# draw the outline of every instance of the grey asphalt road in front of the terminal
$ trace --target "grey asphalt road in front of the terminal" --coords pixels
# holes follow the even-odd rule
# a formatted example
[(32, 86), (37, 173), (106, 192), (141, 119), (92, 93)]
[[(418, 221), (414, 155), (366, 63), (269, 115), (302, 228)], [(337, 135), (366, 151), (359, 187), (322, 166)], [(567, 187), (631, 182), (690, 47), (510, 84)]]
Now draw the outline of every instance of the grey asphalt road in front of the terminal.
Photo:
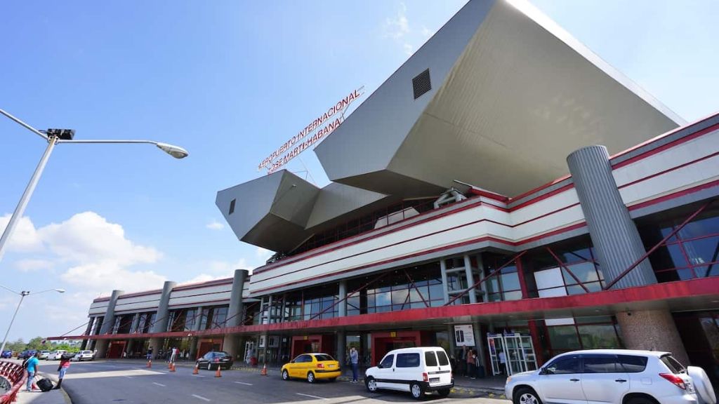
[[(40, 372), (57, 375), (58, 362), (42, 361)], [(63, 388), (74, 404), (104, 403), (326, 403), (375, 404), (416, 403), (409, 393), (383, 391), (370, 393), (362, 383), (283, 381), (275, 370), (268, 376), (244, 370), (228, 370), (222, 377), (201, 370), (192, 375), (191, 367), (169, 372), (165, 364), (152, 369), (138, 362), (73, 362), (65, 375)], [(425, 403), (508, 404), (507, 400), (487, 398), (482, 393), (454, 392), (449, 398), (428, 395)]]

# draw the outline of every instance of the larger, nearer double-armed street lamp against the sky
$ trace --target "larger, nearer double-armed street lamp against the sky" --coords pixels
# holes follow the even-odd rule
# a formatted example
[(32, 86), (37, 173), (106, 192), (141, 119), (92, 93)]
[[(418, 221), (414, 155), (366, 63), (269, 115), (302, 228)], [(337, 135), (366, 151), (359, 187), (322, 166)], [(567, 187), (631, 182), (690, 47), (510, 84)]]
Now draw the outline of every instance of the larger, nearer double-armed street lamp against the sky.
[(162, 142), (155, 142), (154, 140), (75, 140), (73, 139), (75, 135), (75, 131), (68, 130), (68, 129), (48, 129), (46, 133), (42, 133), (39, 130), (31, 127), (30, 125), (24, 123), (20, 119), (17, 119), (15, 116), (12, 116), (11, 114), (7, 113), (6, 111), (0, 109), (0, 114), (3, 114), (4, 116), (7, 116), (9, 119), (12, 119), (13, 121), (17, 122), (17, 124), (21, 125), (25, 129), (28, 129), (30, 132), (33, 132), (37, 134), (38, 136), (42, 137), (47, 141), (47, 147), (45, 148), (45, 153), (43, 153), (42, 157), (40, 158), (40, 162), (37, 164), (37, 168), (35, 168), (35, 173), (32, 174), (32, 178), (30, 178), (30, 182), (27, 183), (27, 187), (25, 188), (24, 193), (22, 193), (22, 197), (20, 198), (19, 203), (17, 203), (17, 207), (15, 208), (15, 211), (13, 212), (12, 216), (10, 217), (10, 221), (8, 222), (5, 231), (2, 234), (2, 237), (0, 237), (0, 261), (2, 260), (3, 254), (5, 252), (5, 244), (7, 243), (8, 239), (12, 235), (12, 232), (15, 229), (15, 226), (17, 226), (17, 221), (22, 217), (22, 214), (25, 211), (25, 207), (27, 206), (27, 202), (30, 200), (30, 196), (32, 196), (32, 192), (35, 190), (35, 185), (37, 185), (37, 181), (40, 180), (40, 175), (42, 175), (42, 170), (45, 170), (45, 164), (47, 164), (47, 159), (50, 158), (50, 153), (52, 153), (52, 150), (55, 149), (56, 144), (65, 144), (65, 143), (93, 143), (93, 144), (112, 144), (112, 143), (145, 143), (145, 144), (155, 144), (155, 146), (159, 147), (160, 150), (163, 152), (168, 153), (168, 155), (171, 155), (175, 158), (181, 159), (188, 156), (187, 150), (183, 149), (182, 147), (175, 146), (173, 144), (167, 144)]

